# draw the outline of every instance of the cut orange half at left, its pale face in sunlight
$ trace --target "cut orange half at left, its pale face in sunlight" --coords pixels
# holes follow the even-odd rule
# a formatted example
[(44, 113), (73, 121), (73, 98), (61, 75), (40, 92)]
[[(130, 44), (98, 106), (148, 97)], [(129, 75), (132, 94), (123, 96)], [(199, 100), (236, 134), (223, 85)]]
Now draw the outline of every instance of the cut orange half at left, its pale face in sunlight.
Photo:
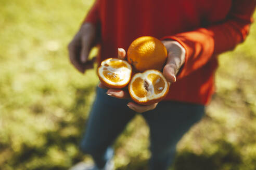
[(132, 66), (121, 59), (109, 58), (101, 62), (98, 77), (108, 88), (121, 89), (125, 87), (132, 76)]

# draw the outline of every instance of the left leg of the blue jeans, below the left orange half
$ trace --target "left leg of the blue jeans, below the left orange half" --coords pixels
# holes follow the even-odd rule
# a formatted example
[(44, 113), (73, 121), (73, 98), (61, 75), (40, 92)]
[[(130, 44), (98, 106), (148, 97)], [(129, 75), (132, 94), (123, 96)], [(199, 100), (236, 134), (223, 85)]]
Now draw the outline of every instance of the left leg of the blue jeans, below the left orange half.
[(110, 146), (136, 114), (126, 106), (129, 100), (110, 97), (106, 92), (105, 89), (97, 88), (96, 98), (81, 142), (81, 150), (91, 154), (99, 168), (104, 167), (107, 160), (112, 157)]

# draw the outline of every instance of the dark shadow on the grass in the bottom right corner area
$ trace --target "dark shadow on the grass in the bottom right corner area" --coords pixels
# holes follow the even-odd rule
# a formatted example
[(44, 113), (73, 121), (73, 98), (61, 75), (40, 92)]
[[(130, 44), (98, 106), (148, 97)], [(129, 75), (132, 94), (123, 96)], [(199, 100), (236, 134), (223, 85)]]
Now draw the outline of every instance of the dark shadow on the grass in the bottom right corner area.
[(225, 140), (217, 141), (218, 150), (212, 155), (200, 154), (184, 150), (177, 153), (175, 170), (217, 170), (217, 169), (239, 169), (242, 158), (238, 147)]

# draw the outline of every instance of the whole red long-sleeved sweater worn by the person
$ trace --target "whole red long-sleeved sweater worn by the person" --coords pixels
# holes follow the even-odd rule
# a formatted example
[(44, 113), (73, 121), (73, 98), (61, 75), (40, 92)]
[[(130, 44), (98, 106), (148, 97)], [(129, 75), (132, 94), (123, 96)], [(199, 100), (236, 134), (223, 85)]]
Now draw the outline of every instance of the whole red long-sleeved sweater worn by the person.
[(217, 54), (245, 40), (255, 0), (96, 0), (84, 22), (98, 30), (98, 62), (117, 57), (134, 39), (177, 40), (186, 61), (165, 100), (207, 104), (214, 92)]

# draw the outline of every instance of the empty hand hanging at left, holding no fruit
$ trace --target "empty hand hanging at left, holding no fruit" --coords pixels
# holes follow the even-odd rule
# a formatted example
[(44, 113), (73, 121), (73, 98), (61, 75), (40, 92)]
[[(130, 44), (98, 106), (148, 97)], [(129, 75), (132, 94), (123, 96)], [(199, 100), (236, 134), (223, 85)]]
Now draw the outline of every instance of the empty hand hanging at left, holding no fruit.
[(96, 58), (88, 60), (88, 56), (95, 43), (95, 38), (95, 26), (91, 23), (84, 23), (68, 45), (70, 62), (81, 73), (84, 73), (86, 69), (93, 68)]

